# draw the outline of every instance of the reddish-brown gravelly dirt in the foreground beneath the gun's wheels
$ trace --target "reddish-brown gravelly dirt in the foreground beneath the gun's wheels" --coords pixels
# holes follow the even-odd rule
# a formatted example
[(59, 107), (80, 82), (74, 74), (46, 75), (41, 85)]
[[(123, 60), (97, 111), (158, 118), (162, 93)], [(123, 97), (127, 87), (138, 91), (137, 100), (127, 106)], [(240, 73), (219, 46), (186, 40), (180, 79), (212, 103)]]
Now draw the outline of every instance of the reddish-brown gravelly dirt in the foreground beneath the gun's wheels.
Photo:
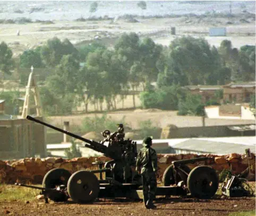
[(157, 199), (157, 209), (144, 209), (142, 201), (103, 200), (92, 204), (29, 203), (11, 201), (0, 203), (0, 215), (228, 215), (232, 212), (255, 210), (255, 198), (197, 200), (192, 198)]

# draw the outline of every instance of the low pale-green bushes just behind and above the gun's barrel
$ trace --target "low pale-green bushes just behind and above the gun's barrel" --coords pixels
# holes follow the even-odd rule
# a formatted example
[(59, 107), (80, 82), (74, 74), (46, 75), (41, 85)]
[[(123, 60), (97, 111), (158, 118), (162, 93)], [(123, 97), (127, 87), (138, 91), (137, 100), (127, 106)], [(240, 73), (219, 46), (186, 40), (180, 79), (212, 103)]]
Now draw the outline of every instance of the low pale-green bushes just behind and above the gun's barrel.
[(83, 118), (81, 130), (85, 133), (90, 131), (95, 131), (97, 133), (103, 132), (104, 130), (109, 130), (110, 132), (114, 132), (117, 130), (116, 124), (124, 124), (126, 127), (129, 125), (125, 123), (125, 116), (120, 121), (115, 121), (104, 113), (101, 116), (95, 115), (95, 118)]

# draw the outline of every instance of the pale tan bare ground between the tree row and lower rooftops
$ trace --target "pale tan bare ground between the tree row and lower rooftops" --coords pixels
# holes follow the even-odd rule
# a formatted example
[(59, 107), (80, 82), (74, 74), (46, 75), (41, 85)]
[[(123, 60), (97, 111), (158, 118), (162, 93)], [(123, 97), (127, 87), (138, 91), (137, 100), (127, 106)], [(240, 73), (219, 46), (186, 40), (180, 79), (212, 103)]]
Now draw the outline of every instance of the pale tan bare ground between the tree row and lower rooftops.
[[(96, 114), (101, 116), (101, 114)], [(202, 118), (200, 116), (178, 116), (177, 111), (153, 111), (135, 110), (135, 111), (118, 111), (108, 113), (115, 121), (121, 121), (124, 118), (126, 127), (139, 129), (140, 122), (150, 120), (152, 126), (164, 128), (168, 124), (175, 124), (178, 128), (182, 127), (201, 127)], [(67, 116), (50, 116), (48, 120), (54, 125), (63, 125), (64, 121), (69, 121), (71, 126), (82, 124), (83, 118), (94, 118), (95, 114), (67, 115)], [(255, 124), (255, 120), (236, 120), (236, 119), (206, 119), (206, 126), (214, 125), (235, 125), (235, 124)]]

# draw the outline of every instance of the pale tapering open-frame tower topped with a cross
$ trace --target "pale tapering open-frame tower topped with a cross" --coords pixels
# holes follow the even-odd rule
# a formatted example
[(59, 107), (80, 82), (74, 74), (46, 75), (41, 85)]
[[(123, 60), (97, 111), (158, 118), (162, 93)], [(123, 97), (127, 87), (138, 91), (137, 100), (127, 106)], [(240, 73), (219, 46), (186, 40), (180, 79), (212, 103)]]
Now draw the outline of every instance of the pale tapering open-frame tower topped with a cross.
[[(35, 104), (31, 103), (31, 96), (35, 99)], [(31, 66), (31, 73), (29, 75), (28, 85), (26, 87), (26, 94), (25, 94), (25, 100), (23, 104), (23, 110), (21, 118), (25, 119), (27, 115), (30, 114), (30, 109), (36, 108), (37, 110), (37, 116), (42, 116), (42, 106), (41, 106), (41, 100), (40, 100), (40, 94), (37, 87), (36, 79), (33, 74), (33, 66)]]

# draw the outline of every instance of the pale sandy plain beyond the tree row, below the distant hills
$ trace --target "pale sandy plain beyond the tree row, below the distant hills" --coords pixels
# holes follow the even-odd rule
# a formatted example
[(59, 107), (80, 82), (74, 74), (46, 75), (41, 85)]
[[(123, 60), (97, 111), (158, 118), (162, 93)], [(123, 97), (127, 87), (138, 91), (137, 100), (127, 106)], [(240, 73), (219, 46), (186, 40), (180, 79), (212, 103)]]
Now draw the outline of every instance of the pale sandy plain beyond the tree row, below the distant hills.
[[(96, 21), (54, 21), (52, 24), (1, 24), (0, 38), (13, 50), (13, 56), (19, 56), (24, 50), (45, 44), (48, 39), (58, 37), (69, 39), (76, 46), (99, 41), (113, 46), (124, 32), (136, 32), (141, 37), (151, 37), (155, 42), (168, 46), (170, 41), (182, 35), (204, 37), (211, 45), (219, 46), (223, 40), (231, 40), (233, 47), (255, 44), (255, 18), (245, 14), (237, 17), (173, 17), (173, 18), (136, 18), (96, 20)], [(171, 35), (171, 27), (176, 35)], [(226, 27), (226, 37), (209, 37), (209, 28)], [(20, 36), (17, 36), (17, 31)]]

